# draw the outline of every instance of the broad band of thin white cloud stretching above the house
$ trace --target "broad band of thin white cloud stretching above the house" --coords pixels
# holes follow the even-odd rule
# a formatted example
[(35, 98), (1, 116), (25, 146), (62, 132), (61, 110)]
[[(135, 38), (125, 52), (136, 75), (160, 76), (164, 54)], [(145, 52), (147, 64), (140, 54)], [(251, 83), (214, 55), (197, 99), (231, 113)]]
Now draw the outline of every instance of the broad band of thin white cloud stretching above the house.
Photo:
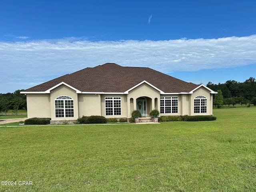
[(22, 77), (30, 83), (106, 62), (150, 67), (164, 73), (198, 71), (255, 64), (255, 47), (256, 35), (164, 41), (92, 42), (72, 37), (0, 42), (0, 68), (5, 76)]

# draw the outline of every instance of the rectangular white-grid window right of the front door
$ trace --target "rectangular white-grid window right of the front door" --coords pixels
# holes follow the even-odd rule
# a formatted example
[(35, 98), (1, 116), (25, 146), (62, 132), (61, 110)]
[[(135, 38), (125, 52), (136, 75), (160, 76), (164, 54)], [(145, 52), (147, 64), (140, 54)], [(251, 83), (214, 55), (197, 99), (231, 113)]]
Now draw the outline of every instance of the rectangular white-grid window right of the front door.
[(178, 113), (178, 97), (161, 97), (160, 113)]

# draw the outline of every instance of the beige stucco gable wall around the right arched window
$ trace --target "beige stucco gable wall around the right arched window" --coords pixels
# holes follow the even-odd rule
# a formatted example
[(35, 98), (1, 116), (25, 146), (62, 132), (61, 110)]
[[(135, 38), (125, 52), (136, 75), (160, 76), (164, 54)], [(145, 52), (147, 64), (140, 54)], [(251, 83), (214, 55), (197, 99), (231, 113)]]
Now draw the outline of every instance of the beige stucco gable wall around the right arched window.
[[(194, 113), (194, 98), (197, 96), (205, 96), (207, 98), (207, 112), (206, 113)], [(194, 115), (212, 115), (212, 94), (210, 94), (209, 90), (204, 87), (200, 87), (193, 92), (190, 96), (190, 108), (191, 108), (191, 116)]]

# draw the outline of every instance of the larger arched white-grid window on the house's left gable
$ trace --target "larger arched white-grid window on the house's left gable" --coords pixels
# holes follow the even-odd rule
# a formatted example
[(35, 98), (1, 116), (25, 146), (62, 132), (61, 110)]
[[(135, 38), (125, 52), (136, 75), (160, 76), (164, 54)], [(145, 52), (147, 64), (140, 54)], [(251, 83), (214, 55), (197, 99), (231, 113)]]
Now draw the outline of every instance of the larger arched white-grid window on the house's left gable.
[(74, 100), (68, 96), (55, 99), (55, 117), (74, 117)]

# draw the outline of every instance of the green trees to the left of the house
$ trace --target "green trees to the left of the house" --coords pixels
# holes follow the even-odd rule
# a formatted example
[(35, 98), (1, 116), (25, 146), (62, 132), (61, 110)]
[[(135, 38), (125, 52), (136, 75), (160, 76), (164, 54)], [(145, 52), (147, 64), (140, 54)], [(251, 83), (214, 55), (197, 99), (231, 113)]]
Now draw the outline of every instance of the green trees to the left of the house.
[(12, 110), (17, 113), (19, 109), (27, 109), (25, 94), (20, 94), (23, 90), (16, 90), (13, 93), (0, 94), (0, 112), (8, 113)]

